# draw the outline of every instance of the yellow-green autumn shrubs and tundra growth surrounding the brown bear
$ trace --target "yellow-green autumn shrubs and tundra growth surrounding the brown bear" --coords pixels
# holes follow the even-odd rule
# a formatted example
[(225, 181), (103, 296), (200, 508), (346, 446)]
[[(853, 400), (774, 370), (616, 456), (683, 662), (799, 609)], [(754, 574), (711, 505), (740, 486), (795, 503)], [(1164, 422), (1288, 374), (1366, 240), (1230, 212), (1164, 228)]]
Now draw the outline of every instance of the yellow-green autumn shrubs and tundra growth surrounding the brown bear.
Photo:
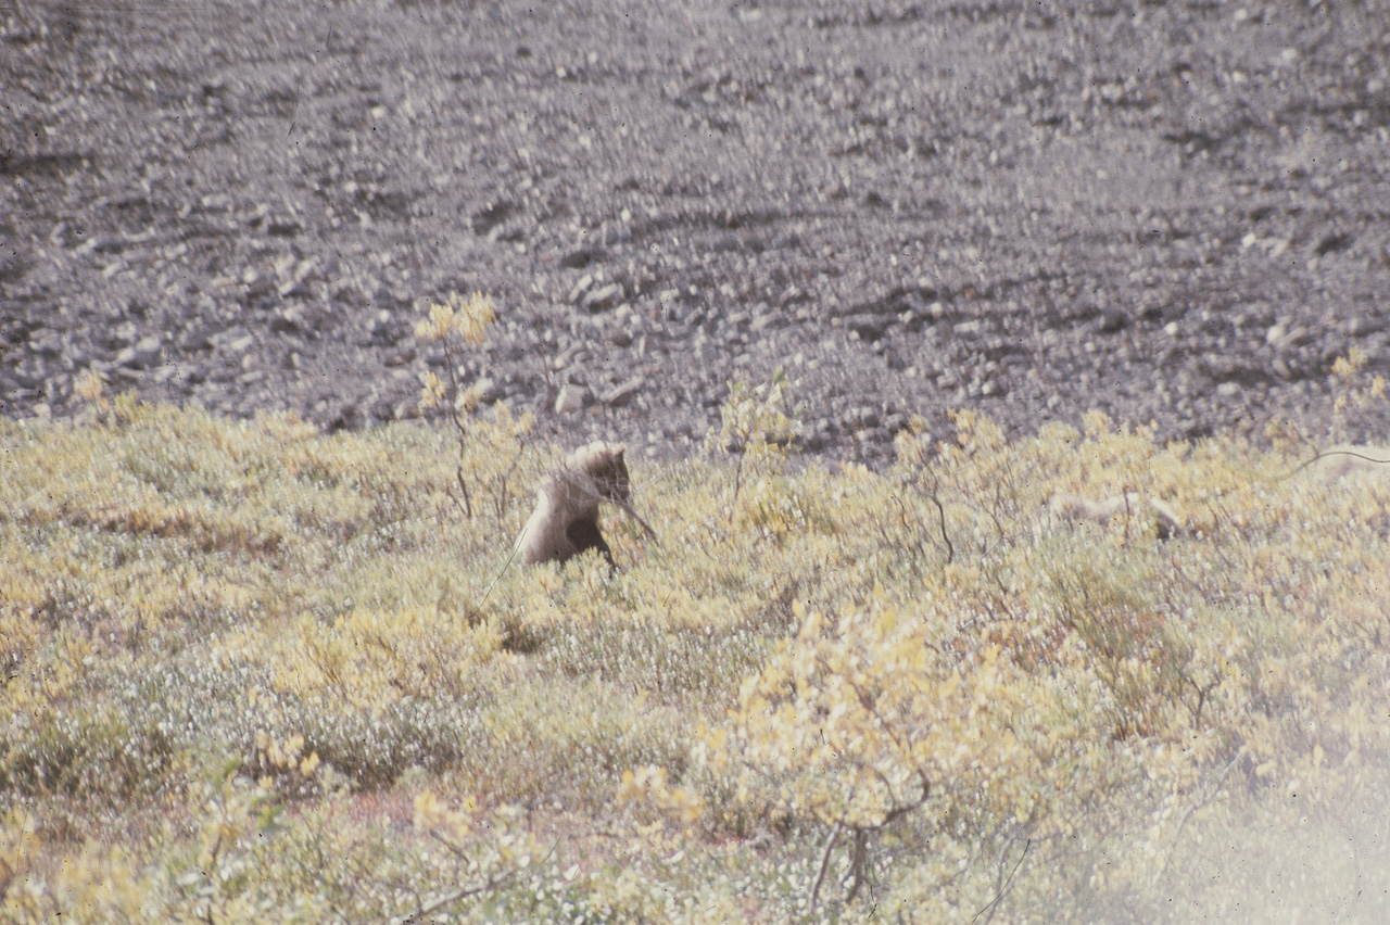
[[(459, 385), (0, 421), (0, 921), (1390, 917), (1380, 471), (966, 412), (833, 471), (738, 386), (632, 461), (659, 543), (503, 569), (563, 449)], [(1180, 529), (1049, 504), (1131, 494)]]

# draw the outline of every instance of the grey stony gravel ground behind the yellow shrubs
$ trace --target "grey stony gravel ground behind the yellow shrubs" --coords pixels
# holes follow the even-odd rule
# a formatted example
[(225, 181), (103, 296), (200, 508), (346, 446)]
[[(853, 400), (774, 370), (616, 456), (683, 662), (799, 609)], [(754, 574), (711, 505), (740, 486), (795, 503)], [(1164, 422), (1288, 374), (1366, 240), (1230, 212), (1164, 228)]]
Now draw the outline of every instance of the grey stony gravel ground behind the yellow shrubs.
[(1390, 374), (1390, 0), (0, 4), (8, 417), (410, 417), (450, 290), (486, 401), (653, 456), (777, 367), (873, 465), (956, 407), (1322, 435)]

